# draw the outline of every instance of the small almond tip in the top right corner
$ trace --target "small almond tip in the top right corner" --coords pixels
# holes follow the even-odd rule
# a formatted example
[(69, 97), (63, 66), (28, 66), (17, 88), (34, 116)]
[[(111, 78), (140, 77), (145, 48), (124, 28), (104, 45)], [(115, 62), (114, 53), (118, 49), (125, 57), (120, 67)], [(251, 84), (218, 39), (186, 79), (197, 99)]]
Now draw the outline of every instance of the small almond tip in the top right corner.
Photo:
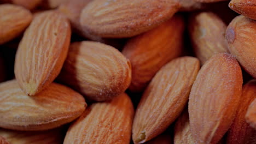
[(256, 1), (252, 0), (232, 0), (229, 3), (229, 8), (236, 13), (256, 20)]

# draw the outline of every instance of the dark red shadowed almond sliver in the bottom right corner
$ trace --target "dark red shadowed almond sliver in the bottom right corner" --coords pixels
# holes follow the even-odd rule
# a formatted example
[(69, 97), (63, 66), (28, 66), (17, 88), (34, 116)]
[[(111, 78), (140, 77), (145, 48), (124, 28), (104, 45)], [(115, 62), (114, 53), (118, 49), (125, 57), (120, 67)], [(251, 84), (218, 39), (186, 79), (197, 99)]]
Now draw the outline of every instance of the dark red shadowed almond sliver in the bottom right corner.
[(236, 117), (228, 131), (226, 137), (227, 144), (255, 144), (256, 130), (249, 126), (245, 116), (249, 105), (256, 98), (256, 81), (246, 83), (242, 89), (240, 105)]

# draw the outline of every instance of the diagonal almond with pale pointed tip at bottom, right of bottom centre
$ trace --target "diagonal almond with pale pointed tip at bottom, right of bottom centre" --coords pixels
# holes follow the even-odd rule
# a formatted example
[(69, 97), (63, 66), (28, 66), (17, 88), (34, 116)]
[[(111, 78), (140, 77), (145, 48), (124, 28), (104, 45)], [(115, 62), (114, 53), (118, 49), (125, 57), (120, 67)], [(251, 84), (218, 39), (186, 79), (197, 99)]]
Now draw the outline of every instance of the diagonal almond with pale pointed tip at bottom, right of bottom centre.
[(181, 114), (199, 71), (194, 57), (173, 59), (162, 67), (144, 91), (132, 125), (135, 144), (160, 135)]

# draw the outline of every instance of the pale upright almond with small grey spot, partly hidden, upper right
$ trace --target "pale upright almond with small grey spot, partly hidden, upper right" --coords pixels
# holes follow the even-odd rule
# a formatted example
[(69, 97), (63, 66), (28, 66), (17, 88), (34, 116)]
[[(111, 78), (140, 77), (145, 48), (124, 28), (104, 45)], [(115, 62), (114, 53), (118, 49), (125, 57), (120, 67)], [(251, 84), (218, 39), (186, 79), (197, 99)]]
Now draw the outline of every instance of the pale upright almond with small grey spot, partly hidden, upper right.
[(202, 12), (190, 17), (190, 39), (201, 64), (216, 53), (228, 52), (225, 31), (225, 23), (211, 12)]

